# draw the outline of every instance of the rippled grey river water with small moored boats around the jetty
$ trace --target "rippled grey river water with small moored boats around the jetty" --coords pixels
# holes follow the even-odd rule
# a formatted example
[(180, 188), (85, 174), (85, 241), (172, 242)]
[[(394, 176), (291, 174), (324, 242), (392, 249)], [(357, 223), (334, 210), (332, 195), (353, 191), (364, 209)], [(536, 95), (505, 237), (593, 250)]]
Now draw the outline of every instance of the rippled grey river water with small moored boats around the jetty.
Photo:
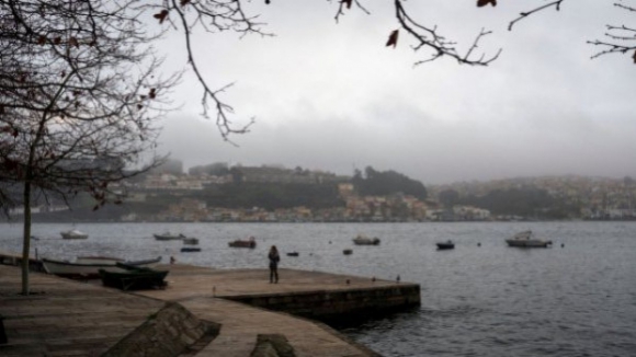
[[(376, 276), (421, 285), (416, 311), (340, 331), (384, 356), (636, 356), (636, 222), (513, 223), (82, 223), (88, 240), (61, 240), (70, 224), (37, 223), (41, 256), (173, 255), (216, 268), (266, 267), (276, 244), (281, 267)], [(21, 226), (0, 224), (0, 250), (21, 252)], [(504, 239), (532, 229), (550, 249), (513, 249)], [(201, 253), (152, 233), (182, 232)], [(353, 246), (363, 233), (379, 246)], [(255, 250), (227, 242), (254, 235)], [(452, 239), (455, 250), (436, 251)], [(561, 246), (563, 244), (563, 246)], [(342, 250), (353, 249), (345, 256)], [(281, 279), (284, 279), (284, 275)]]

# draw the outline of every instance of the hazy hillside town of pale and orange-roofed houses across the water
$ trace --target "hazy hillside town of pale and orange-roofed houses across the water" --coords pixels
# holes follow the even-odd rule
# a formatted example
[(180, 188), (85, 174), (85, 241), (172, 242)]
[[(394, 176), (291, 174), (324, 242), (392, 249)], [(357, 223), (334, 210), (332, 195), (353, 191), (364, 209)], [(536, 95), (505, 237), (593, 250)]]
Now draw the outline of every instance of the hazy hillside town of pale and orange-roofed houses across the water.
[[(205, 199), (209, 192), (229, 185), (270, 184), (328, 185), (336, 187), (337, 205), (330, 207), (224, 207)], [(462, 197), (484, 197), (493, 192), (541, 189), (559, 203), (576, 207), (565, 219), (633, 220), (636, 208), (636, 183), (631, 177), (554, 176), (508, 178), (488, 182), (461, 182), (427, 185), (427, 197), (395, 192), (389, 195), (360, 195), (352, 176), (334, 173), (287, 169), (281, 165), (229, 166), (216, 163), (183, 170), (183, 163), (170, 160), (160, 168), (134, 181), (120, 183), (114, 191), (121, 195), (121, 221), (213, 221), (213, 222), (386, 222), (386, 221), (510, 221), (536, 220), (536, 216), (492, 212), (475, 205), (462, 204)], [(456, 203), (445, 203), (447, 193)], [(212, 201), (211, 201), (212, 200)], [(161, 204), (158, 204), (160, 201)], [(144, 207), (151, 206), (154, 209)], [(64, 205), (39, 205), (34, 214), (66, 211)], [(77, 211), (77, 208), (76, 208)], [(14, 209), (13, 215), (20, 215)]]

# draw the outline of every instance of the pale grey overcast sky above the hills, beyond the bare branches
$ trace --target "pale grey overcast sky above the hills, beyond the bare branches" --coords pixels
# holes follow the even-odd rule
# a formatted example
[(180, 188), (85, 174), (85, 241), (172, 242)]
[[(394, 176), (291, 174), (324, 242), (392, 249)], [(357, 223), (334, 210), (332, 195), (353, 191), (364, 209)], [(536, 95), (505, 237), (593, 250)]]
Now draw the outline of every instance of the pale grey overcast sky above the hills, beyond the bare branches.
[[(224, 142), (201, 117), (201, 89), (186, 76), (175, 90), (181, 110), (163, 123), (161, 150), (186, 168), (213, 162), (283, 164), (352, 174), (367, 165), (425, 184), (537, 175), (636, 176), (636, 65), (628, 56), (590, 57), (586, 41), (605, 24), (634, 24), (611, 0), (569, 0), (515, 24), (545, 1), (405, 2), (422, 24), (436, 25), (461, 51), (485, 27), (479, 51), (502, 53), (488, 67), (450, 58), (414, 67), (393, 1), (364, 0), (336, 23), (337, 1), (254, 0), (274, 37), (196, 36), (208, 83), (235, 83), (222, 99), (247, 135)], [(627, 2), (629, 3), (629, 2)], [(629, 18), (631, 15), (631, 18)], [(632, 21), (629, 21), (632, 20)], [(184, 68), (182, 43), (167, 39), (168, 68)], [(182, 53), (183, 55), (179, 55)]]

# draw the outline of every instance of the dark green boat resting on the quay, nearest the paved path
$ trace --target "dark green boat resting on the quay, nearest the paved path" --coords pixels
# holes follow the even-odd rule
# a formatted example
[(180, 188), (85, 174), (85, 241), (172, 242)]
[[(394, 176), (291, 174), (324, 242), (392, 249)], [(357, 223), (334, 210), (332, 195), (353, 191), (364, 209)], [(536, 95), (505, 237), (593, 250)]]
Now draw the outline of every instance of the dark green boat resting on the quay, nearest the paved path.
[(155, 289), (166, 286), (166, 276), (169, 270), (155, 270), (129, 264), (117, 263), (120, 270), (99, 269), (102, 284), (124, 291), (138, 289)]

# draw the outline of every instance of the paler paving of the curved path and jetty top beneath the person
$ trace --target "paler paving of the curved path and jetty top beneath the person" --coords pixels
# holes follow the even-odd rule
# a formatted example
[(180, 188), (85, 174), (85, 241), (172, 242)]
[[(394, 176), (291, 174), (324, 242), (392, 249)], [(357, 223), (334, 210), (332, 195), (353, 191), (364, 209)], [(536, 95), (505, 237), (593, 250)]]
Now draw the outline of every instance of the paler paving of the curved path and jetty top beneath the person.
[(270, 284), (268, 269), (225, 270), (188, 265), (157, 268), (170, 269), (168, 288), (136, 293), (178, 301), (200, 319), (223, 325), (220, 334), (197, 356), (249, 356), (257, 335), (263, 333), (285, 335), (299, 357), (373, 356), (366, 347), (347, 341), (325, 324), (218, 298), (395, 285), (365, 277), (291, 269), (281, 269), (279, 284)]

